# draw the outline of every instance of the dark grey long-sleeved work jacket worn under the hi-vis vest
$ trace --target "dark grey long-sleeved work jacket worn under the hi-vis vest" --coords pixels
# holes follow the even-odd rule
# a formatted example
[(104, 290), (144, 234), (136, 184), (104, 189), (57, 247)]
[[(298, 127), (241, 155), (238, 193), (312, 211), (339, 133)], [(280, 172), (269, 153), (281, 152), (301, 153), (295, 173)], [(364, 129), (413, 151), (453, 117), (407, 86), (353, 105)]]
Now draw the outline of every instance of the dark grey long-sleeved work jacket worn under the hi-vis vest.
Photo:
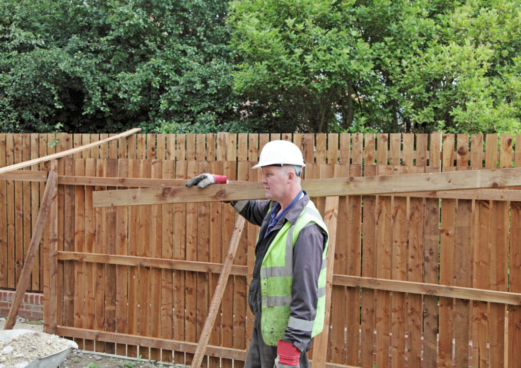
[[(266, 234), (270, 215), (268, 210), (276, 205), (270, 200), (250, 200), (232, 202), (235, 209), (249, 222), (261, 226), (258, 242), (255, 245), (255, 265), (253, 278), (248, 293), (248, 303), (256, 318), (261, 316), (261, 264), (266, 251), (277, 232), (286, 221), (295, 223), (302, 212), (309, 196), (297, 200), (281, 219)], [(293, 248), (293, 284), (291, 287), (290, 317), (313, 321), (317, 311), (318, 276), (322, 265), (322, 252), (326, 245), (327, 234), (316, 224), (304, 227), (296, 239)], [(311, 347), (311, 332), (292, 327), (286, 328), (283, 340), (305, 351)]]

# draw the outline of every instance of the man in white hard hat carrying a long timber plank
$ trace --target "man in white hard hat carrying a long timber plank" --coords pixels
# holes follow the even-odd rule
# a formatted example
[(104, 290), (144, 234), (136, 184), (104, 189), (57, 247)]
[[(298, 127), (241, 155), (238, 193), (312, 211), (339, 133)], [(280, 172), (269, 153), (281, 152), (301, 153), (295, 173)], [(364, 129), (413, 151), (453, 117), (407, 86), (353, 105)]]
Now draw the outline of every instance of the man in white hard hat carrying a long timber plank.
[[(272, 141), (253, 168), (262, 171), (267, 200), (231, 204), (261, 226), (248, 302), (255, 320), (245, 367), (308, 366), (306, 352), (324, 327), (328, 232), (301, 187), (302, 153), (287, 141)], [(201, 174), (186, 185), (227, 183)]]

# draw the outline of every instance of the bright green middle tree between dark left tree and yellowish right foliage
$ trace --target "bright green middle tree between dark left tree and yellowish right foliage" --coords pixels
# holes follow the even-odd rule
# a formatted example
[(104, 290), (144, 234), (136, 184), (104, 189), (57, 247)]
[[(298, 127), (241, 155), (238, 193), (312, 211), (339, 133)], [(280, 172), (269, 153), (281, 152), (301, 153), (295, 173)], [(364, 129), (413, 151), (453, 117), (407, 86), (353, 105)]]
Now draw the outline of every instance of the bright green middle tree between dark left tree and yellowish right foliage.
[(373, 55), (355, 22), (354, 1), (238, 0), (232, 44), (240, 57), (234, 88), (250, 120), (268, 130), (325, 132), (337, 115), (352, 124), (354, 84), (375, 79)]

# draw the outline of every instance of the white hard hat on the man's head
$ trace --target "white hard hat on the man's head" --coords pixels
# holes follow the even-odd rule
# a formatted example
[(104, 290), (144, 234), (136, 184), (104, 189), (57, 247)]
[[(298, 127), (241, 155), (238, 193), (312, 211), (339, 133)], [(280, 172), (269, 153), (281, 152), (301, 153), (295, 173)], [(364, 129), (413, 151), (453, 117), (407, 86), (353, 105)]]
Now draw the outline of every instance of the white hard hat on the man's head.
[(288, 141), (271, 141), (266, 143), (261, 151), (259, 163), (253, 168), (271, 165), (292, 165), (304, 167), (304, 158), (299, 147)]

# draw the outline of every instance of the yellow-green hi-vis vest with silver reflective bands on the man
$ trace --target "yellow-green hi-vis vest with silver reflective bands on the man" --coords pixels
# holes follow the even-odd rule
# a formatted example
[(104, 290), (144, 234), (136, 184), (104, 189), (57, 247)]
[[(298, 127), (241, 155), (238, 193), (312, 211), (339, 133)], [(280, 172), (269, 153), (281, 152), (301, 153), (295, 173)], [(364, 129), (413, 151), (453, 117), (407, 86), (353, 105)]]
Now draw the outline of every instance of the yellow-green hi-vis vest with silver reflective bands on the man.
[[(326, 254), (328, 243), (322, 252), (322, 267), (318, 277), (317, 313), (314, 321), (290, 319), (291, 284), (293, 282), (293, 247), (300, 231), (315, 223), (327, 233), (326, 224), (310, 200), (295, 224), (287, 221), (271, 242), (261, 265), (261, 331), (264, 342), (276, 346), (286, 327), (311, 332), (316, 336), (324, 328), (326, 304)], [(328, 234), (329, 237), (329, 234)]]

